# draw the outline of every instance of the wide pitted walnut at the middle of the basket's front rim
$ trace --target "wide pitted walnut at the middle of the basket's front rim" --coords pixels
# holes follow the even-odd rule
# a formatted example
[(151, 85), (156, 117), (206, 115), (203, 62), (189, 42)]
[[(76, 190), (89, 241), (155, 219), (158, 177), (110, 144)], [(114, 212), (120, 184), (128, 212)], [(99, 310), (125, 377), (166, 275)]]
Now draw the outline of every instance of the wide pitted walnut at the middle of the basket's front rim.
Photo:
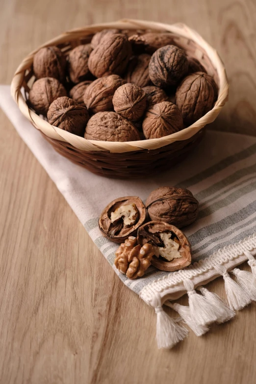
[(140, 140), (139, 132), (133, 124), (116, 112), (98, 112), (93, 115), (87, 123), (84, 137), (101, 141)]

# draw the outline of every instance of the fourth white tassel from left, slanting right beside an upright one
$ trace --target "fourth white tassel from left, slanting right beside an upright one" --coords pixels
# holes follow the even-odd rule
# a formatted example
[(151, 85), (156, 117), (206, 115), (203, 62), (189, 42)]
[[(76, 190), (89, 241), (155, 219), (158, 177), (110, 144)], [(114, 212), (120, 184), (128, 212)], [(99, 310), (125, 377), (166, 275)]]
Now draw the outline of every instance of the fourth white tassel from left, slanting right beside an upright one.
[(212, 308), (214, 308), (214, 312), (217, 316), (217, 324), (225, 323), (226, 321), (229, 321), (232, 319), (235, 315), (235, 312), (230, 309), (222, 300), (221, 298), (216, 295), (216, 293), (212, 293), (208, 291), (205, 287), (198, 288), (202, 292), (202, 294), (205, 296), (205, 299), (208, 303), (211, 304)]

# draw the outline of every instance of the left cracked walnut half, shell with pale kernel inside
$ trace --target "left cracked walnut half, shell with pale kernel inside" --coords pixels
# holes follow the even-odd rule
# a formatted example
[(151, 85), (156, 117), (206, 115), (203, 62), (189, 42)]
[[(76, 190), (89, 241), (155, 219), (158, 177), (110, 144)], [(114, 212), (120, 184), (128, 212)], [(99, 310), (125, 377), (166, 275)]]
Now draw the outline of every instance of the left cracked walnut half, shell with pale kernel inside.
[(123, 243), (129, 236), (137, 235), (137, 230), (146, 220), (146, 216), (146, 207), (139, 197), (120, 197), (104, 208), (99, 227), (109, 240)]

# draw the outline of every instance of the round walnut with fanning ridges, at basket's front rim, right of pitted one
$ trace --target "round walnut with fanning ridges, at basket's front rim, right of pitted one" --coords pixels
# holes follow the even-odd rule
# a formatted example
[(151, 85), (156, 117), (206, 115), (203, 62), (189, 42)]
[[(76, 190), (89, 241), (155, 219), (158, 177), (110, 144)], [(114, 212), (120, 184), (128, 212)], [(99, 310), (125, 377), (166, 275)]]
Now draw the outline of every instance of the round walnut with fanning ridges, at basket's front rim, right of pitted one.
[(183, 120), (177, 105), (172, 102), (159, 102), (146, 112), (142, 124), (146, 139), (159, 139), (178, 132), (183, 128)]

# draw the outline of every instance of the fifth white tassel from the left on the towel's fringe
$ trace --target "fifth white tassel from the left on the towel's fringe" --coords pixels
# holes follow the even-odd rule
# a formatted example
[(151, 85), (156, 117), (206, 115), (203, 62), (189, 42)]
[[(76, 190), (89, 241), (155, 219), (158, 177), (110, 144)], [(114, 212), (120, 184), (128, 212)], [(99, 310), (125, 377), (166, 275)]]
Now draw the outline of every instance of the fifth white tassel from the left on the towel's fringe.
[(231, 309), (240, 310), (251, 303), (248, 293), (236, 282), (234, 282), (228, 274), (226, 268), (221, 265), (215, 265), (215, 270), (223, 276), (225, 282), (225, 290)]

